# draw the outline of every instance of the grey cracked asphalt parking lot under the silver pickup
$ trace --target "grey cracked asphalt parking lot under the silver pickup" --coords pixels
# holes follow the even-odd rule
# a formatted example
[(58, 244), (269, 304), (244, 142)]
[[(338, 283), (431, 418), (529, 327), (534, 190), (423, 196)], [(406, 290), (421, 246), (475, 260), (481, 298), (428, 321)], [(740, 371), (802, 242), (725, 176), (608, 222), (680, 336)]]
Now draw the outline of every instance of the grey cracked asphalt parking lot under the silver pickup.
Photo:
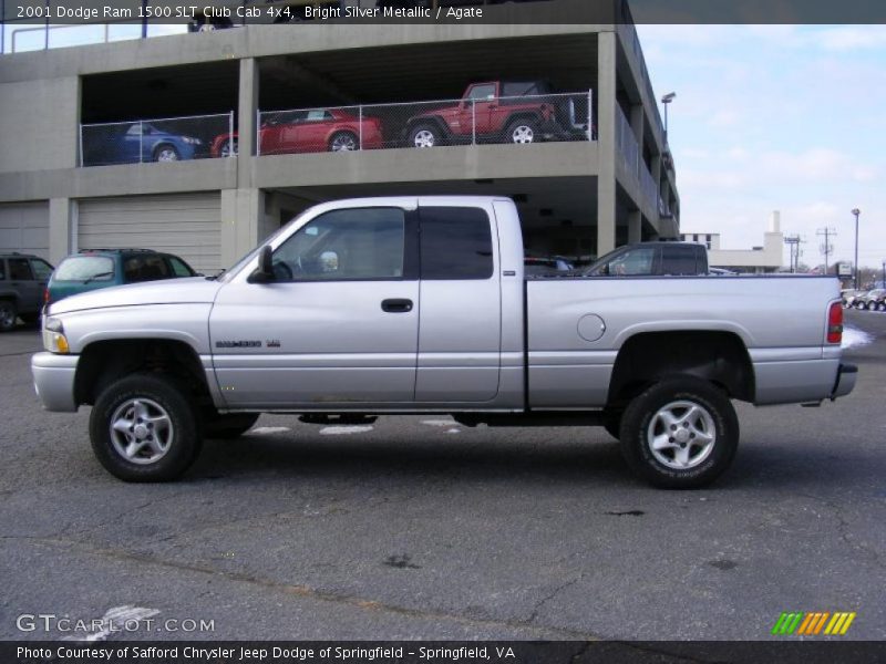
[(855, 392), (740, 405), (738, 459), (697, 491), (639, 483), (602, 429), (434, 417), (262, 416), (184, 480), (126, 485), (87, 409), (41, 412), (35, 331), (4, 334), (0, 639), (83, 637), (18, 618), (115, 609), (158, 622), (111, 640), (756, 640), (783, 611), (886, 639), (886, 314), (847, 320), (874, 338), (846, 353)]

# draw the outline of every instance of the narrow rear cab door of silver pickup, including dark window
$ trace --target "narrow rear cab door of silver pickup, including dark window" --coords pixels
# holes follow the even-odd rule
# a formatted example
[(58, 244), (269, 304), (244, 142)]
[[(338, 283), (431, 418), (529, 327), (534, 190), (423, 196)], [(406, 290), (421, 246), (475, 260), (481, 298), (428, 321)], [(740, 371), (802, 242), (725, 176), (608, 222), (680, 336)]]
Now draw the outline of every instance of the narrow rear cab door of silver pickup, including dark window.
[(492, 208), (419, 207), (421, 322), (415, 401), (483, 403), (498, 394), (502, 293)]

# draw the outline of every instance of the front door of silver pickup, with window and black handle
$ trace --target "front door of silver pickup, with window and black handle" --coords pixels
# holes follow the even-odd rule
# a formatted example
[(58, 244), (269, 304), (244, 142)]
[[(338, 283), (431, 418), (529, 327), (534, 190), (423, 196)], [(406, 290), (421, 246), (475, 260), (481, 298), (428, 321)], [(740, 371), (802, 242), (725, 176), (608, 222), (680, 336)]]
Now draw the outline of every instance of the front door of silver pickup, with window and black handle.
[(274, 281), (239, 273), (222, 288), (209, 334), (228, 407), (341, 412), (412, 404), (418, 227), (408, 208), (319, 211), (272, 241)]

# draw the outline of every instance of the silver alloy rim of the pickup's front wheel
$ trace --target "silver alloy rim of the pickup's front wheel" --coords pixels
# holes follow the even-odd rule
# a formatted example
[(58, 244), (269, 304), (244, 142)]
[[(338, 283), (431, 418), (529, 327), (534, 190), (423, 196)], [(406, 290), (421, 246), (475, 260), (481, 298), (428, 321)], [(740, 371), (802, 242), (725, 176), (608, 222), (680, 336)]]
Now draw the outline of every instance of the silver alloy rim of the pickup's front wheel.
[(175, 429), (169, 414), (150, 398), (123, 402), (111, 416), (111, 443), (133, 464), (148, 465), (169, 450)]

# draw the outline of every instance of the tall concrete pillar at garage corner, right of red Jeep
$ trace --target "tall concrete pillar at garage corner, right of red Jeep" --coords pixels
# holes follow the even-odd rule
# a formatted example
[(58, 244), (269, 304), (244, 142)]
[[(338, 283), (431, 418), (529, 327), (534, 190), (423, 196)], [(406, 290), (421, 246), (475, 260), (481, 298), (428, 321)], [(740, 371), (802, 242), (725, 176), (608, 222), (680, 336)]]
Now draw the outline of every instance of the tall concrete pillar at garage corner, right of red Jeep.
[(616, 248), (616, 33), (597, 35), (597, 256)]

